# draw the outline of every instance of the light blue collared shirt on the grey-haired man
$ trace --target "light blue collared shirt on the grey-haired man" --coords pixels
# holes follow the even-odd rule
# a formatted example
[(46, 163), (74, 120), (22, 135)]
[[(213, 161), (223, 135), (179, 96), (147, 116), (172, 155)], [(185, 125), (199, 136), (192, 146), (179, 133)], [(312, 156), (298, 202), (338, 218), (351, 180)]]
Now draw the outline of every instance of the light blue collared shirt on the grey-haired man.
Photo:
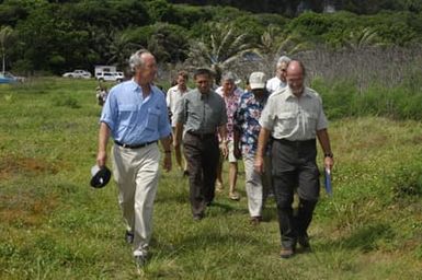
[(110, 127), (114, 140), (125, 144), (156, 141), (171, 132), (164, 94), (151, 85), (144, 98), (134, 80), (113, 86), (100, 121)]

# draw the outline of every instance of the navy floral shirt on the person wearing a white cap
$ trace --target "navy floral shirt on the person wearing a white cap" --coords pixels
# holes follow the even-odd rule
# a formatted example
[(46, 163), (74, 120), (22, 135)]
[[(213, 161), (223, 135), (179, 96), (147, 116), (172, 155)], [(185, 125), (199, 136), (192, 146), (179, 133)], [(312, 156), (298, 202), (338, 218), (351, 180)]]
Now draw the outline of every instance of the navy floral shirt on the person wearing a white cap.
[(267, 98), (267, 93), (262, 98), (255, 98), (252, 92), (246, 92), (240, 98), (235, 127), (240, 131), (240, 147), (243, 155), (256, 153), (258, 136), (261, 129), (259, 119)]

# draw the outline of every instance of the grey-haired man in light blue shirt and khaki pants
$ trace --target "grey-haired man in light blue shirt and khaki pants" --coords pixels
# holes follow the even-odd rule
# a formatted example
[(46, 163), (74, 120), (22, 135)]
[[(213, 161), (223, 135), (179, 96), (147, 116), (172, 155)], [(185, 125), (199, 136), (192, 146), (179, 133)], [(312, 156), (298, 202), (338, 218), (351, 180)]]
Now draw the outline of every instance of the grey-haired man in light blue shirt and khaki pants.
[(152, 232), (152, 206), (157, 192), (160, 152), (164, 149), (164, 170), (171, 170), (171, 127), (164, 94), (152, 84), (157, 62), (140, 49), (130, 56), (134, 78), (115, 85), (100, 119), (96, 162), (104, 166), (110, 136), (113, 174), (118, 202), (126, 221), (126, 241), (133, 243), (137, 265), (144, 265)]

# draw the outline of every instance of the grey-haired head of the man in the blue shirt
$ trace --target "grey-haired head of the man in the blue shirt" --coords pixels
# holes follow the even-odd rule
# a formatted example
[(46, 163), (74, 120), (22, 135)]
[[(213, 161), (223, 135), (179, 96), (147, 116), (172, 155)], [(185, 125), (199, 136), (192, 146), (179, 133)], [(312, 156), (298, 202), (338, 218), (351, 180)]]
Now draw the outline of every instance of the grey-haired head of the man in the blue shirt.
[(147, 49), (139, 49), (129, 58), (130, 71), (138, 83), (150, 83), (157, 74), (157, 62)]

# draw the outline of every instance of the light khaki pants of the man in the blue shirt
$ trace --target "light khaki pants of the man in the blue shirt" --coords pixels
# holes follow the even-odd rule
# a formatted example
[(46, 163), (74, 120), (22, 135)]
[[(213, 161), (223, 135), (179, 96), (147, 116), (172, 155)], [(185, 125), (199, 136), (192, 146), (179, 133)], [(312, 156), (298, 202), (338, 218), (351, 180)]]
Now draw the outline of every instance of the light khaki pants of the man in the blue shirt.
[(160, 152), (157, 143), (127, 149), (114, 145), (113, 174), (127, 231), (134, 233), (134, 255), (146, 255), (152, 233), (152, 207), (157, 194)]

